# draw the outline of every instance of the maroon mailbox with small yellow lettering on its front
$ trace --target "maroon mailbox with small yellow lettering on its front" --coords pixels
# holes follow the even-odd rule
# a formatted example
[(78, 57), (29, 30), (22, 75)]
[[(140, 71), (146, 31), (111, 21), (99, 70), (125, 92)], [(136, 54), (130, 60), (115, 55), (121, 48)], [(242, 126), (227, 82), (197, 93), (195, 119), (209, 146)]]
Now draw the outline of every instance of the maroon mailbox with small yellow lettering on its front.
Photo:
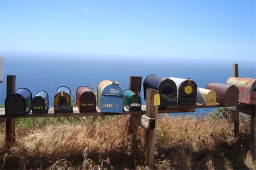
[(95, 112), (96, 97), (87, 86), (81, 86), (76, 90), (76, 104), (79, 112)]

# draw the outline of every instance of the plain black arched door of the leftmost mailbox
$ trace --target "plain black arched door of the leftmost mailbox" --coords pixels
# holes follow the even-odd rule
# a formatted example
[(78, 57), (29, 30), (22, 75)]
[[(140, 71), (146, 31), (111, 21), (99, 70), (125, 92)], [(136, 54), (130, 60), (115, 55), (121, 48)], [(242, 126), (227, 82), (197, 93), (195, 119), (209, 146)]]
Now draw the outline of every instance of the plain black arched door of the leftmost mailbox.
[(6, 115), (25, 115), (26, 101), (22, 95), (13, 93), (5, 100), (5, 114)]

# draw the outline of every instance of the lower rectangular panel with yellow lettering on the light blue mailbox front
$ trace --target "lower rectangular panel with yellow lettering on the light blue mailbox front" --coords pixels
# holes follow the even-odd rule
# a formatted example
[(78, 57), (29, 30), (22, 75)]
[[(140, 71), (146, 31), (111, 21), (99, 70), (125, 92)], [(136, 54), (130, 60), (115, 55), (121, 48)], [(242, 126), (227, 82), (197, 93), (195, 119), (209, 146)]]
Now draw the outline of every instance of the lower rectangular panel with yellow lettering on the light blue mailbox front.
[(122, 113), (123, 112), (123, 98), (121, 96), (102, 96), (101, 112), (110, 112), (110, 113)]

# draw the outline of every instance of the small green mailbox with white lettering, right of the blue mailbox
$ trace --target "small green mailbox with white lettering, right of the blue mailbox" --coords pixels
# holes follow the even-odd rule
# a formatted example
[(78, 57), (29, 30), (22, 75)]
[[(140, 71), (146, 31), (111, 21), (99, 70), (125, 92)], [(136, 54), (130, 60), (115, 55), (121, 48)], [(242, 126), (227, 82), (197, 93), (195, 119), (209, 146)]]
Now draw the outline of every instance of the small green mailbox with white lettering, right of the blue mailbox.
[(126, 89), (123, 91), (123, 105), (129, 111), (141, 109), (141, 98), (132, 90)]

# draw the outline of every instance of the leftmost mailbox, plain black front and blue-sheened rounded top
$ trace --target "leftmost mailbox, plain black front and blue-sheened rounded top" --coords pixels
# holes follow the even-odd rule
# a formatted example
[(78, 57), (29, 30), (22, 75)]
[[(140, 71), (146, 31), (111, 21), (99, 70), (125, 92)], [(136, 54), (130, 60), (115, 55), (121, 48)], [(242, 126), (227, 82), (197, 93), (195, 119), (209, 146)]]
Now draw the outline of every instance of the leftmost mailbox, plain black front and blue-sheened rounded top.
[(5, 100), (6, 115), (26, 115), (31, 110), (32, 94), (27, 88), (19, 88)]

